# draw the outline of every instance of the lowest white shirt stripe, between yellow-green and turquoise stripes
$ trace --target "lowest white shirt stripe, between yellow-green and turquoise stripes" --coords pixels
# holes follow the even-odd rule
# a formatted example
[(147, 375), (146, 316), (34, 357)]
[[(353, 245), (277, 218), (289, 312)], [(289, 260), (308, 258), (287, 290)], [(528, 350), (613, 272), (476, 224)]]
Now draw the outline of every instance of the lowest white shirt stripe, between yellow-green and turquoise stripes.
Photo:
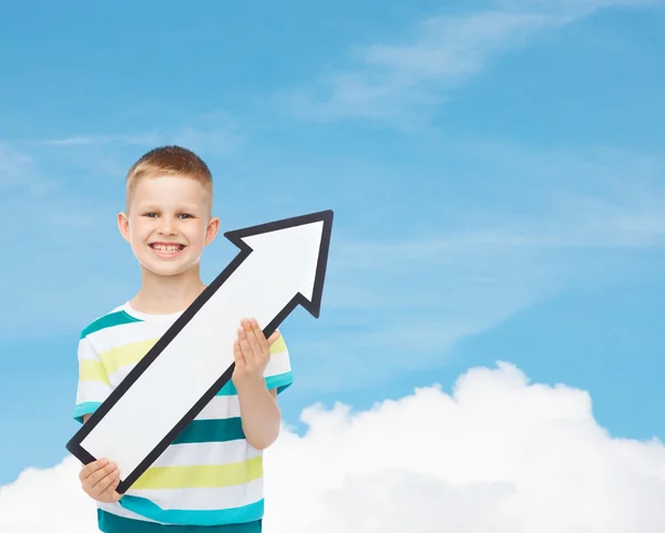
[(147, 498), (164, 510), (217, 511), (239, 508), (258, 502), (263, 498), (263, 479), (249, 483), (215, 489), (150, 489), (127, 491), (139, 498)]

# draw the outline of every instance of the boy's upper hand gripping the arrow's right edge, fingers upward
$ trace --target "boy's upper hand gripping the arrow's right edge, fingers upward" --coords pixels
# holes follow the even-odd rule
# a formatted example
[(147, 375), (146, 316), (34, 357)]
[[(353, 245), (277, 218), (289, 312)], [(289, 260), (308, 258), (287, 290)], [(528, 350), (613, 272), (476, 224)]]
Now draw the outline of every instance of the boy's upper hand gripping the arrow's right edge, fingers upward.
[(243, 319), (234, 342), (235, 369), (232, 380), (237, 387), (246, 381), (263, 380), (264, 370), (270, 359), (270, 346), (279, 338), (276, 330), (268, 339), (256, 319)]

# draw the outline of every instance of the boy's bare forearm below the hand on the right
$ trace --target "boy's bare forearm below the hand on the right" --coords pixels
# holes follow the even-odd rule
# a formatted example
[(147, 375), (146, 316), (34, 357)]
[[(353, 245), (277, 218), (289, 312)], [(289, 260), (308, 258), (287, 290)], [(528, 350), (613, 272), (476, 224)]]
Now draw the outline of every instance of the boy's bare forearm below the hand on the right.
[(268, 448), (279, 435), (282, 412), (274, 392), (263, 378), (236, 383), (243, 432), (257, 450)]

